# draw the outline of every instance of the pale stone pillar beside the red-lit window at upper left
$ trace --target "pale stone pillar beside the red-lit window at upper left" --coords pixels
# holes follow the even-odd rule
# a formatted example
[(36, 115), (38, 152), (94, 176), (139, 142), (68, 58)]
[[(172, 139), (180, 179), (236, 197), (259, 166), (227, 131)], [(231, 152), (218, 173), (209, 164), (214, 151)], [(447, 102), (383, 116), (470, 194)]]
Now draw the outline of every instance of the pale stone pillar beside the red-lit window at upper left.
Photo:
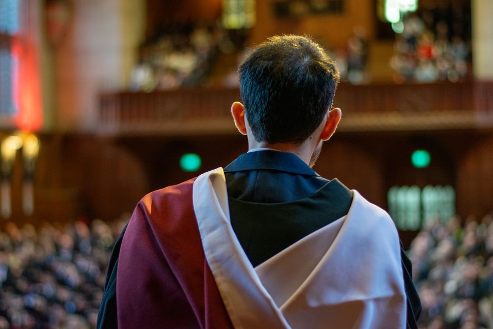
[(72, 0), (56, 49), (57, 128), (93, 131), (98, 94), (127, 87), (145, 22), (144, 0)]

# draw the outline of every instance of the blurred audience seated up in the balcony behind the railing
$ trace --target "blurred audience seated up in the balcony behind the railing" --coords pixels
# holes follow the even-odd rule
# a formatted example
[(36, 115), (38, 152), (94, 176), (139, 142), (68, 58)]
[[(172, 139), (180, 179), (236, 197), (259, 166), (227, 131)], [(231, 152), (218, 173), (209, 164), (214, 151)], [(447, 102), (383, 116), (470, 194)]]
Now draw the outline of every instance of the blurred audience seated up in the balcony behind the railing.
[[(460, 5), (421, 10), (392, 23), (395, 42), (390, 66), (395, 80), (426, 83), (467, 78), (471, 74), (470, 26), (470, 9)], [(132, 70), (129, 89), (150, 92), (206, 85), (217, 66), (227, 66), (226, 71), (230, 71), (223, 84), (237, 87), (237, 65), (217, 63), (224, 59), (221, 53), (235, 53), (236, 64), (248, 53), (244, 44), (248, 31), (234, 31), (203, 22), (162, 27), (139, 47), (139, 62)], [(364, 27), (355, 26), (346, 45), (336, 48), (314, 37), (330, 52), (343, 81), (371, 81), (367, 70), (369, 39)]]

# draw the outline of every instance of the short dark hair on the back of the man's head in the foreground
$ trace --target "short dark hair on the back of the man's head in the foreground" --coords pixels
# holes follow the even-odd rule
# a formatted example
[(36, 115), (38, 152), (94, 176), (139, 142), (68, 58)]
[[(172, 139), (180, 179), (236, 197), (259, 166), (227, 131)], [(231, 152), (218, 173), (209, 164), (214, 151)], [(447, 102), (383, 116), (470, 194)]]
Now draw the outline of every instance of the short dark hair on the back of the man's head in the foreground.
[(241, 64), (240, 93), (257, 141), (305, 141), (332, 106), (339, 72), (325, 50), (301, 35), (276, 35)]

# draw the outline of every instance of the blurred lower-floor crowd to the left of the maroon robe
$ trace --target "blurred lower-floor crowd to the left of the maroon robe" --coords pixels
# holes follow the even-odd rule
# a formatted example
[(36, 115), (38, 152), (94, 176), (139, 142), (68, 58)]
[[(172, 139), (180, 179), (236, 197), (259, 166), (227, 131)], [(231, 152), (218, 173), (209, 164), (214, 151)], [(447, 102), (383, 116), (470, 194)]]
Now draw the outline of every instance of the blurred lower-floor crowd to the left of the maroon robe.
[(126, 220), (0, 231), (0, 329), (94, 328), (113, 243)]

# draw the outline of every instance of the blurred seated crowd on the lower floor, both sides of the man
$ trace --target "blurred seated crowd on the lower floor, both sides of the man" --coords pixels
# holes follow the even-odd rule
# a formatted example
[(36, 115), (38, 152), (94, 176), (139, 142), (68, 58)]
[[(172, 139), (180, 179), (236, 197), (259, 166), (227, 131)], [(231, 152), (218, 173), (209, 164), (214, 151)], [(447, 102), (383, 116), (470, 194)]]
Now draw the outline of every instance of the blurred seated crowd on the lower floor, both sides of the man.
[[(0, 329), (94, 328), (128, 216), (0, 231)], [(493, 328), (493, 216), (430, 221), (409, 249), (421, 329)]]

